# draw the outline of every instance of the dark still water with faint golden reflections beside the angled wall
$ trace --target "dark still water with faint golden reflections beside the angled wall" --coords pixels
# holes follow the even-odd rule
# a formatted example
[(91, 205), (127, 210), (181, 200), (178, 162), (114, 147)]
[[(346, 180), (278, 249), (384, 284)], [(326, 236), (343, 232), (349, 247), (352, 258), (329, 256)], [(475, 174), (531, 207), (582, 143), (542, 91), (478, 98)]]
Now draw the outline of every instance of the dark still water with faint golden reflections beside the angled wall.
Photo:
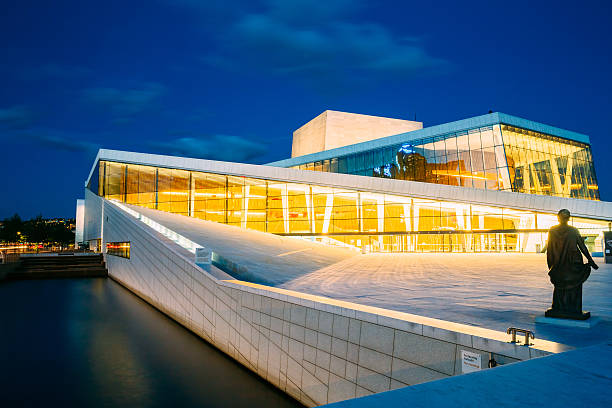
[(110, 279), (0, 283), (0, 406), (297, 407)]

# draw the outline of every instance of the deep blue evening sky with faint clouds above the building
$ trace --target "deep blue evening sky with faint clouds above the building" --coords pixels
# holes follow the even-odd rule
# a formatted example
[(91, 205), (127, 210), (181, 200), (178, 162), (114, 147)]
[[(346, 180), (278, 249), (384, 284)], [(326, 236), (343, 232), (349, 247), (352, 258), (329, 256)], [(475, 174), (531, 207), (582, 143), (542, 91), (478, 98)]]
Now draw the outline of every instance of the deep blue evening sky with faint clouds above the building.
[(99, 147), (266, 163), (325, 109), (586, 133), (612, 200), (609, 4), (4, 2), (0, 218), (73, 216)]

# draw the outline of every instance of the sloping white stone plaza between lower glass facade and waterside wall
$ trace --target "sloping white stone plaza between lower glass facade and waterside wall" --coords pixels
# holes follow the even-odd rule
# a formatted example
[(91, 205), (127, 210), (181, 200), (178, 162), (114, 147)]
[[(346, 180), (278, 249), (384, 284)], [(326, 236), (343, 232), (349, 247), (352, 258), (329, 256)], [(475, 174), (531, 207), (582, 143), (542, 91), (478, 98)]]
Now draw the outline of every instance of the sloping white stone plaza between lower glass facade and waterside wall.
[[(516, 326), (540, 338), (589, 345), (612, 338), (612, 264), (584, 285), (584, 310), (609, 319), (589, 336), (535, 323), (550, 307), (545, 254), (361, 254), (305, 239), (278, 237), (163, 211), (134, 210), (231, 259), (232, 277), (331, 299), (504, 331)], [(610, 327), (608, 327), (610, 326)]]

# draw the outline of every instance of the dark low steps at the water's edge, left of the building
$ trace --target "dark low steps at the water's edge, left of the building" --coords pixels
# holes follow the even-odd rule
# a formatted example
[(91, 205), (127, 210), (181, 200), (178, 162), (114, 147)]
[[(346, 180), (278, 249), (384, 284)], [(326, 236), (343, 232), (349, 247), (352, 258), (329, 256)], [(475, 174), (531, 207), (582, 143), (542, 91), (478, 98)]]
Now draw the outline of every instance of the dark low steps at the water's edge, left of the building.
[(7, 279), (98, 278), (107, 277), (102, 254), (26, 255)]

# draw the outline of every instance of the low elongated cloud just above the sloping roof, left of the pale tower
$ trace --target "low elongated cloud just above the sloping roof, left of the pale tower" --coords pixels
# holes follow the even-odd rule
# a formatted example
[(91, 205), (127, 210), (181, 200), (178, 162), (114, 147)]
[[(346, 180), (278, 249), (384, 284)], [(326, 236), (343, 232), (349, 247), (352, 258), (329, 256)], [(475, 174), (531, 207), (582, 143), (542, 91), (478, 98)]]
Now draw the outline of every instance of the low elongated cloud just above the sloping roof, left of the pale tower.
[(149, 146), (162, 154), (234, 162), (252, 160), (268, 150), (263, 143), (228, 135), (186, 136)]

